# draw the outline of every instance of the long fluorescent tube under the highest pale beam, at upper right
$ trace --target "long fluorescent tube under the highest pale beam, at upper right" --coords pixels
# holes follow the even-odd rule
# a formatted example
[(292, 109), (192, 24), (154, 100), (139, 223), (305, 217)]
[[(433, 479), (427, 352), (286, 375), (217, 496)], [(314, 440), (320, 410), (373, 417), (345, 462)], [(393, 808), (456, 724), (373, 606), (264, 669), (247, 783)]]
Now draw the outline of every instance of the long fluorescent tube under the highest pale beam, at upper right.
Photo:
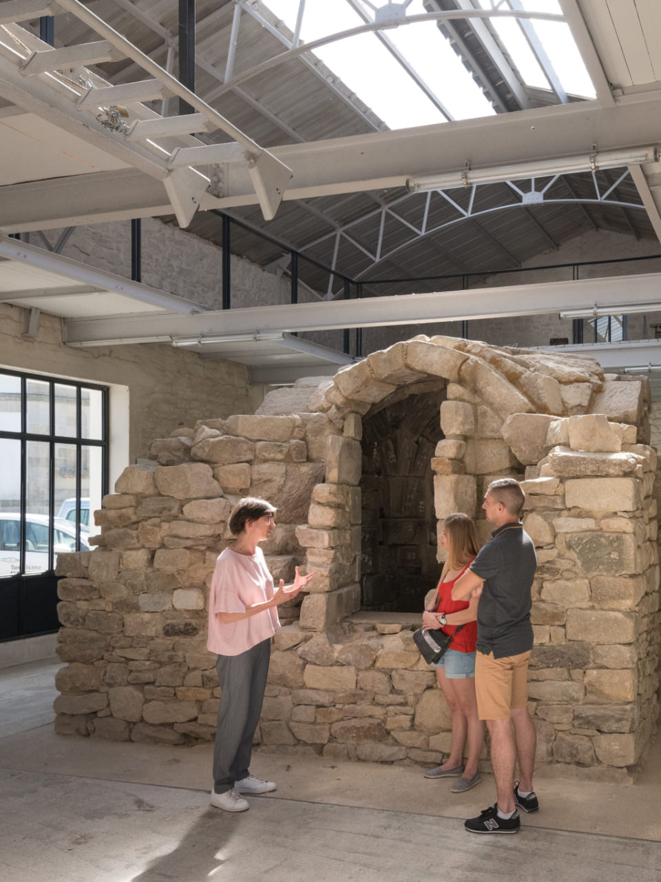
[(642, 165), (645, 162), (657, 161), (657, 146), (613, 150), (605, 153), (585, 153), (582, 156), (568, 156), (553, 160), (521, 162), (516, 165), (492, 168), (465, 168), (463, 171), (452, 171), (439, 175), (410, 177), (406, 181), (406, 190), (410, 193), (427, 190), (452, 190), (456, 187), (471, 187), (476, 183), (500, 183), (501, 181), (520, 181), (532, 177), (571, 175), (582, 171), (597, 171), (599, 168), (620, 168), (621, 166)]

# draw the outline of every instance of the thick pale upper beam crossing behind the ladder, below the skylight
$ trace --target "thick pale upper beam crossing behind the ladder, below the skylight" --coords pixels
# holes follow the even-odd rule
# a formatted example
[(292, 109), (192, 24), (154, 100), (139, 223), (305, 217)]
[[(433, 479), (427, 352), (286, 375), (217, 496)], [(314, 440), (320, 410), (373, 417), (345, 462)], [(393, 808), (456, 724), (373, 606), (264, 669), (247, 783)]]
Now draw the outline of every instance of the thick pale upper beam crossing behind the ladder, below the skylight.
[[(271, 153), (293, 168), (293, 180), (284, 198), (307, 199), (400, 187), (411, 176), (463, 169), (466, 160), (471, 161), (472, 168), (494, 168), (588, 155), (593, 144), (603, 151), (657, 144), (661, 141), (659, 119), (661, 90), (654, 89), (622, 95), (613, 108), (602, 108), (598, 101), (583, 101), (456, 123), (290, 144), (274, 147)], [(99, 146), (110, 134), (99, 133)], [(128, 158), (123, 139), (115, 138), (113, 147), (122, 147), (123, 152), (115, 155)], [(158, 162), (153, 155), (150, 161)], [(231, 169), (231, 174), (223, 176), (226, 188), (222, 196), (205, 193), (201, 208), (255, 205), (258, 200), (247, 164), (237, 160), (224, 164), (224, 168)], [(0, 188), (0, 229), (20, 232), (169, 213), (171, 207), (162, 184), (154, 182), (158, 185), (154, 186), (144, 178), (131, 169), (124, 176), (104, 172), (43, 182), (33, 191), (33, 184)]]

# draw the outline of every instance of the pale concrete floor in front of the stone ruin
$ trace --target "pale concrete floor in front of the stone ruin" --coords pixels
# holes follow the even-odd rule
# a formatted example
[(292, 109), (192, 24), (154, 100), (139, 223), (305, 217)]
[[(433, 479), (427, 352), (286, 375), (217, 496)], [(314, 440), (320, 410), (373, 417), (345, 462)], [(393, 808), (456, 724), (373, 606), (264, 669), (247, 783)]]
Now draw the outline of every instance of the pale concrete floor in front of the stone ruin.
[(278, 782), (239, 815), (212, 809), (211, 745), (56, 736), (57, 662), (0, 670), (3, 882), (661, 882), (661, 739), (630, 787), (539, 778), (516, 836), (475, 836), (464, 796), (412, 766), (256, 753)]

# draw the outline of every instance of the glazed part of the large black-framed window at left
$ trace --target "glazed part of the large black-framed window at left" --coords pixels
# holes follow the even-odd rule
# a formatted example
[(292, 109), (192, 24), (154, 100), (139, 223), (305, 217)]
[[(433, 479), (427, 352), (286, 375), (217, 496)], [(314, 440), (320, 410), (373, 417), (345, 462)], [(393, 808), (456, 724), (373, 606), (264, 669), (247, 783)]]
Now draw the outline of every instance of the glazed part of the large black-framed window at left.
[(108, 388), (0, 370), (0, 579), (90, 548), (108, 492)]

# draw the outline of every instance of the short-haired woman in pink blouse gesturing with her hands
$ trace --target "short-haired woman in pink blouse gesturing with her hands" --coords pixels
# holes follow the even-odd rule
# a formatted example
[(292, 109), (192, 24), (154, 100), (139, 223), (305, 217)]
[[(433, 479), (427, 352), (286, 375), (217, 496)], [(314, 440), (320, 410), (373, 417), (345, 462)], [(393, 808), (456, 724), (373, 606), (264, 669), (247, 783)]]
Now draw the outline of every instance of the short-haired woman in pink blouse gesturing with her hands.
[(291, 600), (315, 575), (293, 584), (273, 585), (264, 552), (257, 547), (271, 535), (276, 509), (264, 499), (241, 499), (230, 515), (236, 536), (216, 562), (209, 595), (207, 648), (218, 654), (216, 669), (222, 689), (213, 751), (212, 805), (225, 811), (246, 811), (241, 794), (268, 793), (273, 781), (249, 773), (252, 740), (262, 711), (271, 638), (280, 623), (276, 607)]

